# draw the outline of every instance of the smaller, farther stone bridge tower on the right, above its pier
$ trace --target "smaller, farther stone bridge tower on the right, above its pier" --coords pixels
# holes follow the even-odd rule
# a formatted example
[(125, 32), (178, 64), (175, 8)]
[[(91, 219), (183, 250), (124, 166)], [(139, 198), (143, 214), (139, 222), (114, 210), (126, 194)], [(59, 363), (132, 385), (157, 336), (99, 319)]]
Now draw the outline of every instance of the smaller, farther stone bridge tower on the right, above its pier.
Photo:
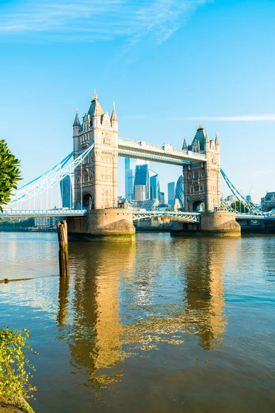
[(220, 207), (220, 145), (216, 134), (215, 140), (209, 140), (207, 131), (201, 124), (192, 144), (187, 146), (184, 138), (182, 149), (204, 153), (207, 162), (192, 162), (184, 165), (184, 211), (214, 211)]

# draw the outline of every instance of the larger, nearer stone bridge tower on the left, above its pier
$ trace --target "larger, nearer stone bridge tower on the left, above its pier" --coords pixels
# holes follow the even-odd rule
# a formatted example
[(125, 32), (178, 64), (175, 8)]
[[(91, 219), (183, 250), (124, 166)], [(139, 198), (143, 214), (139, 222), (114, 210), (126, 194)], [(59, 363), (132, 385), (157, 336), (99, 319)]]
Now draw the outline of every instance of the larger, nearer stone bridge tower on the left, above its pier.
[(94, 149), (75, 170), (76, 209), (110, 209), (118, 204), (118, 118), (103, 112), (94, 92), (89, 111), (80, 124), (74, 120), (74, 158), (94, 143)]

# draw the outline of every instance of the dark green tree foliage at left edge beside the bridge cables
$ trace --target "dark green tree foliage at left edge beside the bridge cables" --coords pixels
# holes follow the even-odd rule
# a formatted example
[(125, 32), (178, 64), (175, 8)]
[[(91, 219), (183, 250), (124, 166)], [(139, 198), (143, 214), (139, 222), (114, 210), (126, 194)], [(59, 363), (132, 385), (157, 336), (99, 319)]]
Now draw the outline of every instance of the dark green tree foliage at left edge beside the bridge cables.
[(0, 140), (0, 211), (1, 205), (8, 204), (12, 190), (17, 189), (17, 182), (21, 180), (19, 171), (20, 161), (12, 155), (5, 140)]

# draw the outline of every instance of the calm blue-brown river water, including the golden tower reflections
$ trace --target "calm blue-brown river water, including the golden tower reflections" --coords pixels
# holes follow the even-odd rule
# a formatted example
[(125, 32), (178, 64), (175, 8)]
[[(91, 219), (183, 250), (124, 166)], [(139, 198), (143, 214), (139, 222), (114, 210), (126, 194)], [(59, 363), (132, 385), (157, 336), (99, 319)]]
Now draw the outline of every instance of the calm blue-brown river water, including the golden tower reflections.
[(275, 411), (275, 237), (69, 244), (0, 233), (0, 324), (39, 355), (36, 413)]

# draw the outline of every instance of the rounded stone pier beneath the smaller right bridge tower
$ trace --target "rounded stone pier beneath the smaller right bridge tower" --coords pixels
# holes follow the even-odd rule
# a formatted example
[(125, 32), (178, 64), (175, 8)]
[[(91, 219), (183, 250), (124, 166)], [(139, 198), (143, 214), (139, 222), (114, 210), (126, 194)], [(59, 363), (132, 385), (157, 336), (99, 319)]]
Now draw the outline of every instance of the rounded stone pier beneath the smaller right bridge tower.
[(200, 224), (173, 222), (170, 234), (188, 237), (240, 237), (241, 226), (236, 222), (235, 213), (218, 211), (202, 213)]

